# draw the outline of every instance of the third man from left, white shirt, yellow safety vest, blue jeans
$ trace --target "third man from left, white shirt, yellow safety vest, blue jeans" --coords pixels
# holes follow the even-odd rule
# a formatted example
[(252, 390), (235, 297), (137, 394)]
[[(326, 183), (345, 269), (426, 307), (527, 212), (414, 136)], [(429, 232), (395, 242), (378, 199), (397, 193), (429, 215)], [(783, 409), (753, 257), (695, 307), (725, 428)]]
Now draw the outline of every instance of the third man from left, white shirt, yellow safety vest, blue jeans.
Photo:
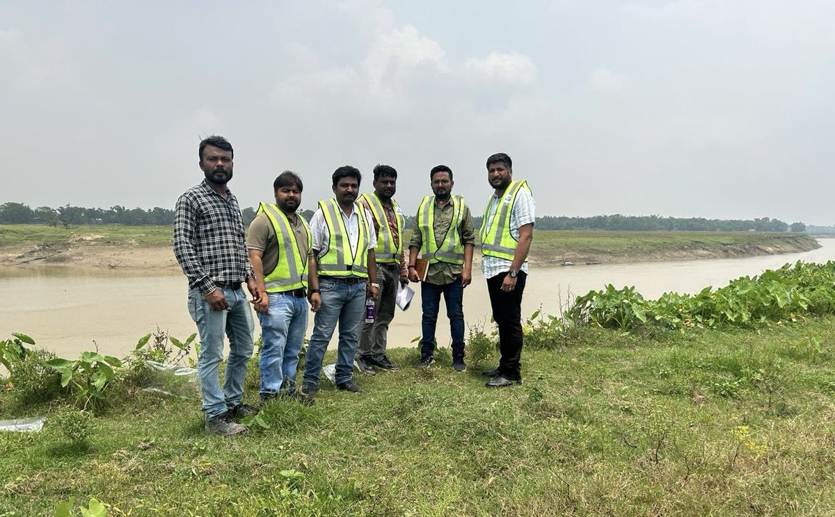
[(321, 360), (337, 322), (337, 389), (360, 390), (353, 382), (353, 363), (362, 311), (366, 298), (377, 299), (379, 289), (372, 215), (356, 202), (362, 174), (345, 165), (337, 168), (331, 179), (334, 198), (320, 201), (311, 218), (314, 259), (309, 265), (310, 297), (317, 312), (301, 384), (301, 393), (306, 395), (318, 389)]

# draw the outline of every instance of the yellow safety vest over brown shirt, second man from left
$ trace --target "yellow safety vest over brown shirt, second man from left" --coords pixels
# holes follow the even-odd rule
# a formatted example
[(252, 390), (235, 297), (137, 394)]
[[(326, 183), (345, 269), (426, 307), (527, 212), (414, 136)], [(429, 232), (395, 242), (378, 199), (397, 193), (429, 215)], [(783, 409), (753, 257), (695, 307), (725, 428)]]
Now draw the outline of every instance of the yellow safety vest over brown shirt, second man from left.
[(311, 253), (313, 239), (305, 218), (296, 214), (307, 233), (307, 248), (303, 250), (299, 248), (290, 220), (275, 203), (261, 203), (258, 205), (258, 213), (266, 213), (272, 223), (272, 228), (276, 230), (278, 243), (276, 269), (264, 277), (264, 287), (267, 293), (284, 293), (307, 288), (307, 257)]

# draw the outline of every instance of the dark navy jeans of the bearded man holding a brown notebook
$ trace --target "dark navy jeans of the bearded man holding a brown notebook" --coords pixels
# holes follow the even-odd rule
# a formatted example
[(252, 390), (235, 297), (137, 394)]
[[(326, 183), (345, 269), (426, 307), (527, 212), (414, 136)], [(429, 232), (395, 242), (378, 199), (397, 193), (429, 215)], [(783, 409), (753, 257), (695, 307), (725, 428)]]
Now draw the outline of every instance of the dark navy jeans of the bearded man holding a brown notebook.
[(443, 294), (444, 304), (447, 305), (449, 334), (453, 338), (453, 359), (463, 359), (464, 288), (461, 285), (461, 278), (458, 277), (449, 284), (422, 282), (420, 284), (420, 294), (423, 309), (423, 317), (421, 318), (423, 336), (420, 340), (421, 356), (432, 355), (435, 350), (435, 326), (438, 324), (438, 310), (441, 307), (441, 294)]

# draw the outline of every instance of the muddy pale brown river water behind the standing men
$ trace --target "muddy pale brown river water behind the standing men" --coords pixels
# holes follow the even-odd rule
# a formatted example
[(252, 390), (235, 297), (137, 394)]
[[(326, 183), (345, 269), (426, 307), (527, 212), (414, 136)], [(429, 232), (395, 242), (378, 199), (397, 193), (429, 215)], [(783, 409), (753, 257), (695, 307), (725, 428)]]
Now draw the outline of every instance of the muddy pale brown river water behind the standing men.
[[(760, 274), (797, 260), (835, 260), (835, 239), (821, 239), (822, 248), (807, 253), (747, 259), (689, 260), (680, 262), (612, 264), (533, 268), (525, 290), (522, 312), (541, 305), (556, 314), (560, 302), (590, 289), (634, 285), (645, 298), (666, 291), (696, 293), (707, 285), (721, 287), (731, 279)], [(490, 304), (480, 271), (464, 291), (468, 324), (488, 321)], [(29, 334), (38, 346), (69, 357), (96, 345), (104, 352), (124, 355), (136, 341), (158, 326), (177, 338), (195, 332), (185, 305), (186, 282), (181, 274), (137, 274), (119, 269), (80, 271), (69, 268), (0, 267), (0, 339), (12, 332)], [(419, 293), (418, 293), (419, 295)], [(389, 346), (413, 346), (420, 334), (420, 302), (406, 312), (397, 311)], [(308, 336), (312, 329), (311, 314)], [(256, 334), (260, 333), (257, 328)], [(438, 343), (448, 345), (449, 326), (444, 311), (438, 318)]]

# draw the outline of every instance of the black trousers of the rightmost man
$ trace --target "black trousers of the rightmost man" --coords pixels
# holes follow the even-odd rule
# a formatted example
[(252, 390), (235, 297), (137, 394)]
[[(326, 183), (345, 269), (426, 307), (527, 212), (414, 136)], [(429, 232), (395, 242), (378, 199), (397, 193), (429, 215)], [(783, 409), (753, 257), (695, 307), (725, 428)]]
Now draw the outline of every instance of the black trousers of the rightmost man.
[(503, 291), (507, 273), (487, 279), (487, 292), (493, 307), (493, 319), (498, 326), (498, 373), (511, 380), (522, 380), (522, 293), (528, 274), (519, 271), (516, 288)]

